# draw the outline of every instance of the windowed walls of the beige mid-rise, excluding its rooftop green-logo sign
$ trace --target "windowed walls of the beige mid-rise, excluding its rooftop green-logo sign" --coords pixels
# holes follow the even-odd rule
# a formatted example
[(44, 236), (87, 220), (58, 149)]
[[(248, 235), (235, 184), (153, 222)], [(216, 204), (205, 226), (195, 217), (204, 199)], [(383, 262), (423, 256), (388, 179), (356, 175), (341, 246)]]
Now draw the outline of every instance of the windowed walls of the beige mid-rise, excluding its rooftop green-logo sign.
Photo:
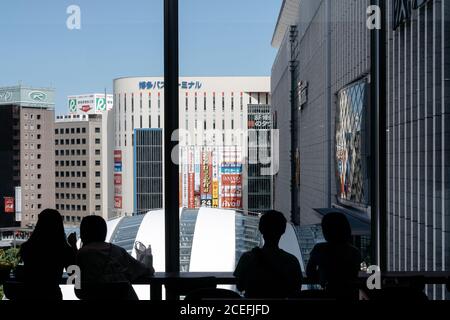
[(103, 215), (101, 115), (58, 116), (55, 122), (56, 209), (66, 224)]

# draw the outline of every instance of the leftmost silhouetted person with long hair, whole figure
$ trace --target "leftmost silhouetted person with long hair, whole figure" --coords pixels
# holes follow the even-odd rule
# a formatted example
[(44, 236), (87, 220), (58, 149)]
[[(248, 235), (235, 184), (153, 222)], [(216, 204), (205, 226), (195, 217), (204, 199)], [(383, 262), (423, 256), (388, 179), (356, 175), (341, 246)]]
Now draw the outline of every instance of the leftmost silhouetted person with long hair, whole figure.
[(64, 268), (75, 264), (76, 251), (69, 246), (63, 218), (58, 211), (46, 209), (38, 216), (30, 239), (20, 249), (24, 263), (23, 298), (61, 300), (59, 287)]

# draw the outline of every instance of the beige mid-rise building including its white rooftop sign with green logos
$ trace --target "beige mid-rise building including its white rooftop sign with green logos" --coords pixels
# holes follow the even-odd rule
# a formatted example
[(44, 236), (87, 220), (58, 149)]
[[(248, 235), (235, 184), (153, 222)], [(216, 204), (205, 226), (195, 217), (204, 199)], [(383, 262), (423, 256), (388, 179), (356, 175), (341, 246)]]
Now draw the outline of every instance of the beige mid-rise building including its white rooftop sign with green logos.
[(68, 115), (55, 121), (55, 199), (66, 225), (87, 215), (111, 218), (112, 96), (68, 97)]

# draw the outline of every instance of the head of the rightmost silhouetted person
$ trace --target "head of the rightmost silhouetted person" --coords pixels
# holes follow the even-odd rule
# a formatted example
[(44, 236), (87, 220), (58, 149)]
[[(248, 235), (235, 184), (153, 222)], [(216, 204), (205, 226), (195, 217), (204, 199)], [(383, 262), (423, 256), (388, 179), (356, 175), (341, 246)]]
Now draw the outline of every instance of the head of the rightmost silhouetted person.
[(329, 243), (344, 244), (352, 241), (350, 223), (340, 212), (331, 212), (323, 217), (322, 232)]

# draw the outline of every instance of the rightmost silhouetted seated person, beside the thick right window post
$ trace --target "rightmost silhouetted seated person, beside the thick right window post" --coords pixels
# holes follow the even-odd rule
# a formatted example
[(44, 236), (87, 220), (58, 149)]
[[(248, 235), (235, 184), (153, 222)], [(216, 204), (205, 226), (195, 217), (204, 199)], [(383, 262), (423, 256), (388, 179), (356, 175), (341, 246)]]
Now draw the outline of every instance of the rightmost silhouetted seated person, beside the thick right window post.
[(350, 224), (345, 215), (333, 212), (322, 219), (322, 232), (326, 242), (311, 251), (306, 274), (332, 296), (349, 297), (361, 268), (361, 254), (351, 244)]

